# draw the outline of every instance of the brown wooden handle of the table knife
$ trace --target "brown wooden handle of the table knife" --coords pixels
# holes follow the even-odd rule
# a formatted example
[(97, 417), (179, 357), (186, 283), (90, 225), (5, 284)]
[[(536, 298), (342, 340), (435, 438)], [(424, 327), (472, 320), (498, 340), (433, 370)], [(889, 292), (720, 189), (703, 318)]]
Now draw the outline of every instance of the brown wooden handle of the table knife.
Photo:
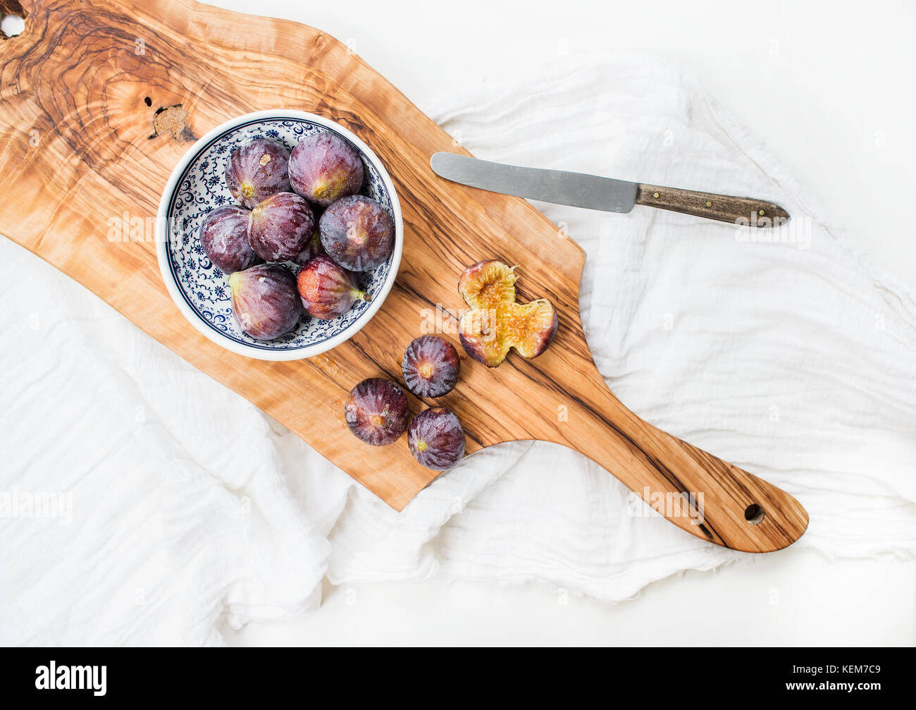
[(789, 213), (773, 202), (661, 185), (639, 185), (636, 202), (649, 207), (660, 207), (662, 210), (756, 227), (780, 226), (790, 219)]

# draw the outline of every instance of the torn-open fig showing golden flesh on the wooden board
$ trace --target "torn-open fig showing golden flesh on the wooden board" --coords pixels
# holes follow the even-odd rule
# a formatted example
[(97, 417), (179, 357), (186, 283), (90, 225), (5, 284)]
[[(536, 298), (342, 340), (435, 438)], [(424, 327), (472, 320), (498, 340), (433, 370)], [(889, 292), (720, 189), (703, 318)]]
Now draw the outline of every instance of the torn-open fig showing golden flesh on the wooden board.
[(478, 262), (464, 269), (458, 290), (470, 306), (458, 322), (464, 351), (487, 367), (503, 363), (510, 349), (537, 357), (557, 333), (557, 311), (550, 300), (518, 303), (513, 268), (500, 261)]

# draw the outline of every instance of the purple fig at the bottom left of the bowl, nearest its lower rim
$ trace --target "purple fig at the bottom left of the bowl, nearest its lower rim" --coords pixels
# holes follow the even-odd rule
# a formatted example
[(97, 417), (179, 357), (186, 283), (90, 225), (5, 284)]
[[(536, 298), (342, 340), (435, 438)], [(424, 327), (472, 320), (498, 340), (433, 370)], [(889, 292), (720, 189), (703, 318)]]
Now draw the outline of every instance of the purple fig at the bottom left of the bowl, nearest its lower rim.
[(296, 327), (302, 303), (296, 279), (279, 264), (260, 264), (229, 276), (232, 312), (239, 328), (257, 340), (273, 340)]

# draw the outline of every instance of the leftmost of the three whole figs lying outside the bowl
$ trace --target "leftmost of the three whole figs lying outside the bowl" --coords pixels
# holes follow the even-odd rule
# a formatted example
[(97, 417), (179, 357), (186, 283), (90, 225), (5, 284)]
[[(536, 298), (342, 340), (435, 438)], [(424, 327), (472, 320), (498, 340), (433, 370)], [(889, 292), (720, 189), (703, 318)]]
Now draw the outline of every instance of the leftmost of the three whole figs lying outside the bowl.
[(396, 442), (407, 429), (407, 397), (390, 379), (364, 379), (344, 404), (344, 420), (350, 431), (366, 443), (382, 446)]

